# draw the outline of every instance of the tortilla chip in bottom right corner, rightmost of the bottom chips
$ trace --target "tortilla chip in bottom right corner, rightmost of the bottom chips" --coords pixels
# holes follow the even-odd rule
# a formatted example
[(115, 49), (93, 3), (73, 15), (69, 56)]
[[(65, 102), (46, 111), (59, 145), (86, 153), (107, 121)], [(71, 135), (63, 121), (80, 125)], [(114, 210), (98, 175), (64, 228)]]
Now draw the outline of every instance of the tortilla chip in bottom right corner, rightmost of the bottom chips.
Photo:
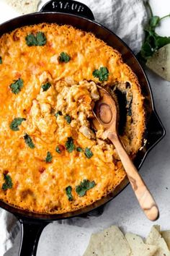
[(170, 256), (169, 248), (164, 238), (159, 233), (158, 226), (156, 227), (153, 226), (151, 228), (151, 231), (148, 234), (148, 237), (146, 239), (146, 244), (153, 244), (158, 247), (154, 256), (163, 256), (163, 255)]

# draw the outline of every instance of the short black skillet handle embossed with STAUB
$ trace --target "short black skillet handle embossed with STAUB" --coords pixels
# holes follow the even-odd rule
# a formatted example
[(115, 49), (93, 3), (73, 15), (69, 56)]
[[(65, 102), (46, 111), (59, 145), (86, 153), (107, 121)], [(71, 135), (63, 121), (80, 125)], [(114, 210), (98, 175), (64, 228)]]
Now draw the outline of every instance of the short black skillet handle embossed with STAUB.
[(79, 1), (72, 0), (54, 0), (48, 1), (41, 9), (40, 12), (64, 12), (68, 14), (75, 14), (94, 20), (94, 14), (91, 9)]

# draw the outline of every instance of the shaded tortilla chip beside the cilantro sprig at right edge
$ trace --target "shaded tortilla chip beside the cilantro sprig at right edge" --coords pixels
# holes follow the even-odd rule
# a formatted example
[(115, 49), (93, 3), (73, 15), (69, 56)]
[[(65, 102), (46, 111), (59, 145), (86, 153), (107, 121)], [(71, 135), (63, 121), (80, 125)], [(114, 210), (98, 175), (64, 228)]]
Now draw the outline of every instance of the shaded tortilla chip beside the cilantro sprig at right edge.
[(146, 66), (153, 72), (170, 81), (170, 43), (158, 49), (158, 51), (146, 61)]

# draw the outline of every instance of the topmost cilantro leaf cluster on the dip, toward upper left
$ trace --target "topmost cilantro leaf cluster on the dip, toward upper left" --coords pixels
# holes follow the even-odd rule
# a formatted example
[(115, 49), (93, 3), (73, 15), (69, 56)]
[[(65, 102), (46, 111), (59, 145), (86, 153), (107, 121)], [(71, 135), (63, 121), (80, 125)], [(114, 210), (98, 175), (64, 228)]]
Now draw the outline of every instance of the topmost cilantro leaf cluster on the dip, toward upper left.
[(47, 42), (47, 38), (42, 32), (38, 32), (36, 35), (31, 33), (30, 35), (26, 36), (25, 40), (27, 46), (44, 46)]

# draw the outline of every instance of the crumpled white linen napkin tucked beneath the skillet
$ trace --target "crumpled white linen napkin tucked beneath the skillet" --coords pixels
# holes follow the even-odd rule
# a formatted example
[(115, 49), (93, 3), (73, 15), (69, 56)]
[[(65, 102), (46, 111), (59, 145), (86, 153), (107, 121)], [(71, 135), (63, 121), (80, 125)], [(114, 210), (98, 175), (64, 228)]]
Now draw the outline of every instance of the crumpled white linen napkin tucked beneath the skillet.
[[(143, 5), (143, 0), (79, 1), (90, 7), (91, 11), (94, 13), (95, 20), (120, 36), (135, 54), (140, 51), (144, 37), (143, 26), (147, 21), (147, 13)], [(42, 7), (45, 2), (46, 0), (42, 0), (40, 7)], [(0, 16), (2, 12), (4, 12), (4, 9), (0, 9)], [(16, 16), (16, 12), (14, 16)], [(5, 17), (5, 20), (10, 18), (12, 17)], [(75, 218), (60, 223), (83, 226), (84, 220), (82, 218)], [(12, 247), (18, 232), (19, 223), (16, 218), (12, 216), (11, 213), (0, 209), (0, 256), (3, 256), (4, 253)]]

